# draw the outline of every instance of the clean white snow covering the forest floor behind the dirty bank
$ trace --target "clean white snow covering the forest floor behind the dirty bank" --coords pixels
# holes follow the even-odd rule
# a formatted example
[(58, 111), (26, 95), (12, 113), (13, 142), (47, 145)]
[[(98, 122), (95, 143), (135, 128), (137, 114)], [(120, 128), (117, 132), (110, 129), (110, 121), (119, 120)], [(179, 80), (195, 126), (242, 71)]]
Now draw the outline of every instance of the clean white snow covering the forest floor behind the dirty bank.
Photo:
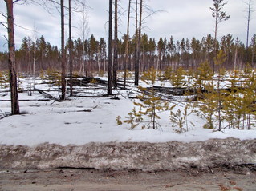
[[(22, 89), (26, 90), (28, 83), (22, 80)], [(35, 87), (49, 91), (48, 94), (59, 96), (57, 86), (42, 84), (36, 79)], [(81, 87), (79, 87), (81, 88)], [(106, 94), (104, 89), (83, 90), (79, 95)], [(135, 89), (132, 87), (131, 89)], [(0, 89), (0, 100), (10, 100), (10, 93)], [(213, 138), (227, 137), (241, 140), (255, 139), (256, 131), (223, 129), (221, 132), (213, 129), (203, 129), (205, 119), (195, 113), (189, 116), (194, 127), (189, 127), (185, 133), (176, 133), (169, 122), (169, 112), (160, 113), (160, 129), (129, 130), (128, 124), (116, 125), (116, 117), (122, 120), (128, 116), (134, 107), (133, 101), (128, 98), (132, 90), (116, 90), (120, 100), (111, 97), (68, 97), (67, 101), (35, 101), (45, 99), (42, 94), (27, 92), (19, 94), (22, 115), (4, 117), (0, 120), (0, 145), (29, 145), (35, 146), (45, 142), (59, 145), (84, 145), (90, 142), (168, 142), (168, 141), (207, 141)], [(95, 108), (95, 109), (92, 109)], [(182, 108), (182, 104), (175, 109)], [(84, 112), (92, 109), (91, 112)], [(0, 101), (0, 113), (10, 113), (10, 101)], [(0, 115), (1, 117), (1, 115)]]

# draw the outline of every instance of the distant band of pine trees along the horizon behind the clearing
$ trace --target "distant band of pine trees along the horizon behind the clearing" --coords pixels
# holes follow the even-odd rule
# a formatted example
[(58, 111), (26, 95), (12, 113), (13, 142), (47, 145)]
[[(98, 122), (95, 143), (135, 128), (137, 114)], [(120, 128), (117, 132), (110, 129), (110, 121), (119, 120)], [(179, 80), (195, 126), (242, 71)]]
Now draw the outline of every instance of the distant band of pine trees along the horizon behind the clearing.
[[(125, 37), (118, 42), (118, 67), (124, 70), (125, 61)], [(134, 70), (134, 54), (136, 39), (129, 38), (128, 42), (128, 70)], [(93, 72), (103, 74), (108, 68), (107, 45), (104, 38), (95, 39), (93, 34), (90, 38), (72, 40), (73, 68), (79, 74), (92, 75)], [(66, 46), (67, 62), (68, 45)], [(165, 70), (171, 67), (176, 70), (195, 69), (202, 62), (208, 60), (213, 66), (215, 56), (214, 38), (211, 34), (201, 39), (183, 38), (181, 41), (171, 38), (148, 38), (147, 34), (141, 36), (140, 42), (140, 72), (154, 66), (157, 70)], [(217, 50), (223, 50), (226, 54), (226, 62), (222, 65), (226, 70), (242, 70), (246, 63), (254, 67), (256, 62), (256, 34), (251, 39), (250, 46), (246, 46), (231, 34), (223, 36), (217, 42)], [(7, 53), (0, 53), (0, 70), (7, 70)], [(16, 50), (16, 67), (18, 71), (30, 74), (41, 70), (60, 70), (60, 50), (52, 46), (41, 36), (34, 42), (30, 37), (22, 39), (21, 47)]]

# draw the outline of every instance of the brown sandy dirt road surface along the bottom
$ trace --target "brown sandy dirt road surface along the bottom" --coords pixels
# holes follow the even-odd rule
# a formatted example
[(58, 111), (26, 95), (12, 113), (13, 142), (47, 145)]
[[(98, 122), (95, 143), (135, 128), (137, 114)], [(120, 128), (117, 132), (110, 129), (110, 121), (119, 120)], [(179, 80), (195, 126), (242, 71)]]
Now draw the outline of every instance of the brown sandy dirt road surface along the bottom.
[(97, 171), (95, 169), (2, 170), (2, 191), (256, 190), (256, 172), (247, 169), (199, 171)]

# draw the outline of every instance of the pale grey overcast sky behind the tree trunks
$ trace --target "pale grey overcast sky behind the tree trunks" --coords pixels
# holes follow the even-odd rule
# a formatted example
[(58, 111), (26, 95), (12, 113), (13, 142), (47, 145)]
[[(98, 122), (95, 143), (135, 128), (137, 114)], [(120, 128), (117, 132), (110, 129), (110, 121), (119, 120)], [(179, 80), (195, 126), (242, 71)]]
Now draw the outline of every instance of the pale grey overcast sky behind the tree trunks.
[[(67, 1), (66, 1), (67, 2)], [(94, 34), (95, 38), (108, 37), (108, 1), (107, 0), (87, 0), (88, 22), (90, 34)], [(120, 7), (123, 9), (123, 17), (120, 18), (120, 33), (124, 35), (126, 31), (127, 21), (127, 2), (128, 0), (120, 1)], [(174, 40), (182, 38), (199, 38), (207, 34), (213, 34), (214, 21), (212, 18), (210, 6), (213, 6), (212, 0), (145, 0), (144, 1), (152, 10), (161, 10), (144, 21), (142, 33), (147, 33), (149, 37), (156, 38), (156, 41), (162, 36), (170, 38), (173, 35)], [(248, 0), (230, 0), (225, 6), (225, 11), (230, 14), (230, 20), (221, 22), (218, 30), (218, 38), (225, 34), (233, 34), (233, 37), (238, 37), (245, 43), (246, 41), (246, 10)], [(256, 10), (255, 4), (253, 9)], [(6, 14), (6, 6), (4, 1), (0, 0), (0, 12)], [(22, 42), (22, 38), (30, 36), (33, 38), (34, 32), (37, 31), (38, 38), (43, 35), (46, 41), (52, 45), (59, 46), (60, 44), (60, 16), (56, 10), (47, 13), (41, 6), (35, 5), (14, 5), (14, 18), (18, 26), (29, 29), (24, 30), (15, 26), (15, 42), (17, 48)], [(132, 13), (134, 14), (134, 13)], [(144, 16), (146, 16), (144, 14)], [(250, 37), (256, 33), (255, 14), (252, 14), (250, 22)], [(79, 21), (81, 15), (73, 14), (73, 38), (79, 36)], [(132, 18), (133, 19), (133, 18)], [(1, 22), (6, 22), (0, 16)], [(67, 21), (67, 20), (66, 20)], [(134, 28), (134, 25), (131, 24)], [(0, 26), (0, 50), (6, 50), (6, 29)], [(67, 33), (66, 33), (67, 35)]]

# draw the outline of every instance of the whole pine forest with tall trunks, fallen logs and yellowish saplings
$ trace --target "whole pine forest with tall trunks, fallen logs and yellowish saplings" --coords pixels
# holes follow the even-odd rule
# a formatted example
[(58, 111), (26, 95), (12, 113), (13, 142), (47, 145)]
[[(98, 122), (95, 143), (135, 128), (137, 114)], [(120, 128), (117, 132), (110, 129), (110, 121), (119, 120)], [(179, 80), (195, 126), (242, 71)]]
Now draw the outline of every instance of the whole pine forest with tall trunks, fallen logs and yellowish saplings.
[[(135, 107), (128, 116), (123, 116), (124, 120), (120, 116), (116, 117), (118, 125), (127, 123), (131, 125), (129, 129), (138, 126), (141, 129), (159, 129), (161, 125), (157, 119), (161, 120), (161, 117), (158, 113), (166, 112), (170, 112), (169, 122), (173, 124), (174, 129), (178, 127), (178, 133), (189, 130), (188, 122), (193, 126), (193, 121), (188, 120), (191, 113), (205, 119), (203, 127), (206, 129), (252, 129), (256, 110), (256, 34), (249, 39), (249, 26), (253, 11), (249, 1), (246, 45), (232, 34), (217, 38), (219, 24), (230, 19), (230, 15), (224, 11), (227, 3), (223, 0), (213, 0), (213, 6), (209, 9), (214, 20), (213, 35), (207, 34), (201, 39), (184, 37), (176, 40), (172, 35), (156, 39), (142, 33), (142, 18), (148, 16), (144, 15), (147, 6), (143, 0), (128, 1), (127, 33), (118, 38), (118, 1), (110, 0), (108, 39), (96, 39), (94, 34), (85, 38), (85, 17), (83, 35), (73, 39), (71, 1), (67, 7), (62, 0), (56, 4), (61, 10), (60, 48), (51, 45), (42, 35), (34, 39), (24, 37), (21, 46), (15, 50), (14, 42), (10, 42), (14, 40), (11, 33), (14, 30), (8, 30), (9, 52), (0, 53), (0, 85), (6, 89), (6, 83), (10, 80), (11, 113), (19, 113), (18, 91), (23, 91), (22, 77), (26, 77), (40, 78), (50, 85), (57, 86), (59, 97), (36, 89), (35, 82), (33, 85), (33, 91), (39, 91), (55, 101), (66, 100), (67, 94), (69, 97), (81, 96), (84, 86), (92, 86), (92, 89), (94, 86), (100, 86), (103, 90), (106, 87), (102, 86), (108, 87), (108, 92), (97, 94), (96, 97), (117, 96), (116, 91), (119, 90), (128, 90), (133, 92), (132, 94), (135, 91), (134, 97), (131, 97), (130, 93), (121, 95), (140, 101), (132, 101)], [(8, 18), (13, 18), (13, 5), (13, 2), (6, 1)], [(84, 11), (85, 4), (79, 5)], [(135, 13), (134, 34), (129, 33), (131, 9)], [(69, 34), (66, 42), (63, 35), (65, 11), (68, 11)], [(14, 27), (13, 19), (7, 23), (9, 27)], [(9, 76), (4, 72), (6, 70), (9, 70)], [(135, 85), (132, 88), (131, 83)], [(77, 86), (80, 86), (81, 92), (77, 90)], [(51, 88), (50, 86), (49, 91)], [(112, 90), (115, 93), (112, 93)], [(28, 91), (31, 91), (31, 87)], [(183, 106), (177, 104), (179, 96)]]

